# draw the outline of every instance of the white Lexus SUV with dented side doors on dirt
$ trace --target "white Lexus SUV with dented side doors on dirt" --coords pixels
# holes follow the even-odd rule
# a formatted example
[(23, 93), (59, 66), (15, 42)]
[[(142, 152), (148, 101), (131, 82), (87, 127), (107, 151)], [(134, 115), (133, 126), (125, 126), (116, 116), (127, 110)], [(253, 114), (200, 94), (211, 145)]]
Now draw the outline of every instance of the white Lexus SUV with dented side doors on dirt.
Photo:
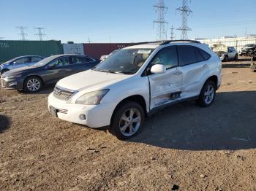
[(191, 98), (210, 106), (221, 82), (221, 61), (206, 44), (150, 42), (61, 79), (49, 95), (48, 109), (61, 120), (109, 126), (118, 139), (129, 139), (162, 106)]

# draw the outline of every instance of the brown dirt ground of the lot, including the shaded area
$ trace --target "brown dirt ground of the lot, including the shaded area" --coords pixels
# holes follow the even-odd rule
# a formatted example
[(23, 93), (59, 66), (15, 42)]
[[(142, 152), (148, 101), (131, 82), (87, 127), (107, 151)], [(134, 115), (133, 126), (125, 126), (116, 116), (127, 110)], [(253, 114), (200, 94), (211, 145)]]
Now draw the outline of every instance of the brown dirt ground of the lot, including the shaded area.
[(170, 106), (118, 141), (51, 117), (48, 94), (0, 90), (0, 190), (256, 190), (256, 73), (223, 64), (215, 103)]

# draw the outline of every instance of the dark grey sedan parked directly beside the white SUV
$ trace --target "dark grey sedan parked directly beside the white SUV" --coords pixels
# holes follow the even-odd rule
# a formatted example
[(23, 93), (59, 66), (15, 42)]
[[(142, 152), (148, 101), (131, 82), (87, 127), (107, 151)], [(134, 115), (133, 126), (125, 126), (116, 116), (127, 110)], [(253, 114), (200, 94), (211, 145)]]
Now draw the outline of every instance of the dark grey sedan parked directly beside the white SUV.
[(5, 72), (1, 75), (1, 87), (35, 93), (44, 85), (54, 84), (63, 77), (91, 69), (97, 63), (99, 61), (85, 55), (53, 55), (32, 66)]

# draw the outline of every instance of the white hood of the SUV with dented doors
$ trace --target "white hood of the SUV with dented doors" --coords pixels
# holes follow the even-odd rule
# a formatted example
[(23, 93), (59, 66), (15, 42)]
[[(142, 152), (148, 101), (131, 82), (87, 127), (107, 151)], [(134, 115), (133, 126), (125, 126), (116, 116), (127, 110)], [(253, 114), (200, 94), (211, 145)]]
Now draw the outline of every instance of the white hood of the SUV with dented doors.
[(93, 90), (100, 90), (100, 88), (113, 85), (114, 83), (120, 82), (121, 80), (129, 77), (131, 77), (131, 75), (110, 74), (101, 71), (88, 70), (65, 77), (59, 80), (57, 85), (69, 90), (85, 90), (89, 88)]

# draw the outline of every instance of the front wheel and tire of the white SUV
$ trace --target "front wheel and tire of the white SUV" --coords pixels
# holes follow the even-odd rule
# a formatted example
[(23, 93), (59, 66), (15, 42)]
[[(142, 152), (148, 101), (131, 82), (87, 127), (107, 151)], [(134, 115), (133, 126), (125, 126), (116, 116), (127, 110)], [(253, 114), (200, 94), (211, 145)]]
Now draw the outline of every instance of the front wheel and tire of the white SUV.
[(130, 139), (140, 132), (144, 120), (145, 113), (142, 106), (134, 101), (125, 101), (113, 114), (110, 133), (119, 140)]

